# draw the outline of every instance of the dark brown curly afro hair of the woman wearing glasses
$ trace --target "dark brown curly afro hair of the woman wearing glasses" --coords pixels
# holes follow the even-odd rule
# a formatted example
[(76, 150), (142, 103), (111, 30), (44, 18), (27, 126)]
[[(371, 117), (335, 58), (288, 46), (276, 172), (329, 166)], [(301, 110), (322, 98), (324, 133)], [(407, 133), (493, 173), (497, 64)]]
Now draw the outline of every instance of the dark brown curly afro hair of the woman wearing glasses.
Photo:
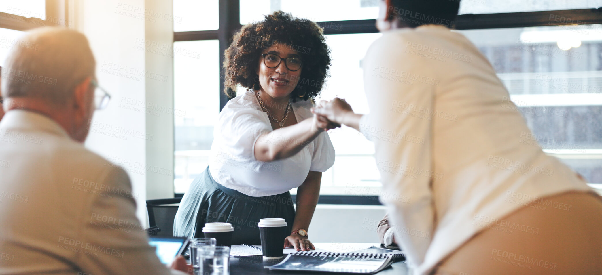
[[(308, 19), (293, 17), (290, 13), (275, 11), (264, 20), (244, 25), (232, 44), (226, 49), (224, 93), (234, 97), (235, 86), (253, 88), (257, 77), (256, 66), (264, 49), (275, 43), (293, 47), (303, 60), (297, 86), (291, 101), (308, 100), (320, 94), (330, 67), (330, 48), (324, 42), (323, 28)], [(299, 97), (305, 94), (303, 97)]]

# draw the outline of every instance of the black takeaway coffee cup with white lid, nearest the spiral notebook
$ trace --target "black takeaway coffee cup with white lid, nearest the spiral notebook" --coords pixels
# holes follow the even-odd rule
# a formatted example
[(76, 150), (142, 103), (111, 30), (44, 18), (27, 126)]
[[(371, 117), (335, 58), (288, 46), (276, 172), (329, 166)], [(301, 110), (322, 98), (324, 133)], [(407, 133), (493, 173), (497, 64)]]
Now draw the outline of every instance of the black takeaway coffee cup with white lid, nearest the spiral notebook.
[(281, 259), (284, 238), (288, 236), (284, 218), (262, 218), (257, 224), (264, 259)]

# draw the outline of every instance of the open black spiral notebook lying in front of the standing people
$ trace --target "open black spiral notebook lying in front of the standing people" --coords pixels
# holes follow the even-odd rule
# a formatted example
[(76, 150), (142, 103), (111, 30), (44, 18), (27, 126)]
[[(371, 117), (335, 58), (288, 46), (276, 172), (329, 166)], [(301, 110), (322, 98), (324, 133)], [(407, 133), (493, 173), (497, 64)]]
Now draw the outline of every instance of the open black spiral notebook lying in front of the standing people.
[(293, 252), (280, 264), (265, 268), (270, 270), (374, 274), (389, 267), (394, 260), (403, 259), (403, 252), (397, 250), (390, 250), (387, 253), (370, 253), (370, 251), (376, 250), (390, 249), (380, 249), (373, 246), (358, 250), (358, 252), (366, 253)]

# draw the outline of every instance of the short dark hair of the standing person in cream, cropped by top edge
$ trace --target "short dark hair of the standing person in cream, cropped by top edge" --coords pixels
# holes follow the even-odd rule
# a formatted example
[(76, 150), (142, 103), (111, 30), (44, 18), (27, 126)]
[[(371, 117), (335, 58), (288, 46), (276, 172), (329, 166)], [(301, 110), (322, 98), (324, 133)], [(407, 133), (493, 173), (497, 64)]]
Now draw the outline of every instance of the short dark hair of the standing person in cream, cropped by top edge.
[(415, 28), (436, 24), (454, 28), (461, 0), (391, 0), (387, 20), (399, 20)]

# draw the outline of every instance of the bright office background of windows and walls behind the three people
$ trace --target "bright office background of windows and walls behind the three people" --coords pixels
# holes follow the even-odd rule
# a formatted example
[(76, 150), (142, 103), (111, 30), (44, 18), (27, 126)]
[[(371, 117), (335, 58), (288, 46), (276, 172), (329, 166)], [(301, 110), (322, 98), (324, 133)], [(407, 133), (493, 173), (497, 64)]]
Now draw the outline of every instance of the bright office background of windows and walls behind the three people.
[[(90, 122), (85, 145), (128, 171), (138, 218), (147, 224), (146, 200), (182, 196), (208, 165), (214, 125), (228, 101), (223, 51), (241, 25), (276, 10), (318, 22), (332, 66), (316, 100), (344, 97), (356, 113), (368, 113), (361, 64), (380, 36), (378, 1), (2, 0), (0, 65), (27, 29), (84, 32), (99, 84), (112, 97)], [(455, 26), (488, 58), (523, 113), (533, 132), (524, 142), (602, 189), (599, 7), (602, 0), (462, 0)], [(378, 196), (386, 194), (373, 146), (350, 128), (329, 135), (337, 155), (323, 173), (312, 241), (377, 243), (385, 213)]]

